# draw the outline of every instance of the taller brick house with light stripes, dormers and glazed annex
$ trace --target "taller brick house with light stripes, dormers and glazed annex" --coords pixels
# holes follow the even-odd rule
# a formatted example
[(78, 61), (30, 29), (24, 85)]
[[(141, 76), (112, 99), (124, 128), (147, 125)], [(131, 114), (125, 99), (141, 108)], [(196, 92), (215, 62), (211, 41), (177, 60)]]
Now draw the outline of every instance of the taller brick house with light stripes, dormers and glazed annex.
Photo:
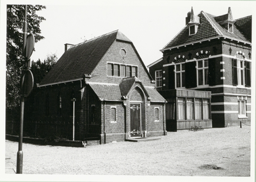
[(186, 26), (148, 65), (166, 103), (167, 130), (250, 124), (252, 16), (234, 20), (193, 8)]

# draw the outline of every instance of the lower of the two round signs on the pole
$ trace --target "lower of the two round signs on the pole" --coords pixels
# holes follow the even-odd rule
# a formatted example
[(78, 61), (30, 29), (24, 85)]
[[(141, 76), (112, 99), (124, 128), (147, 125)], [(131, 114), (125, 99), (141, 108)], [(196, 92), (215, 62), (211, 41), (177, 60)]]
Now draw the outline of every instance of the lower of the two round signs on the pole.
[(20, 91), (24, 97), (29, 96), (34, 86), (33, 73), (30, 70), (26, 70), (20, 79)]

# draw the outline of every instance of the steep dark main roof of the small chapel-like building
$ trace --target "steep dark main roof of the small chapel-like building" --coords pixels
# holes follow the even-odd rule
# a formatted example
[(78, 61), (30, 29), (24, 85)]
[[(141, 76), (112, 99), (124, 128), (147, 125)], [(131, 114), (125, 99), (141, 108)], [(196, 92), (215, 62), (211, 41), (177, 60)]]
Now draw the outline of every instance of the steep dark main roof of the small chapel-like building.
[(70, 47), (40, 85), (82, 79), (84, 74), (92, 73), (115, 40), (131, 42), (124, 34), (113, 31)]

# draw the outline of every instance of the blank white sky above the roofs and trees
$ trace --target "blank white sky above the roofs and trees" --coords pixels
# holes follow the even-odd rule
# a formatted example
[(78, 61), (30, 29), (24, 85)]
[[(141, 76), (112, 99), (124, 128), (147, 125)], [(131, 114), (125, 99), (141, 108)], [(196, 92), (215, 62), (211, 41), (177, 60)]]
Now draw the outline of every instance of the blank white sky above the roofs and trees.
[(60, 58), (65, 43), (81, 43), (118, 29), (133, 42), (146, 66), (161, 58), (159, 50), (186, 26), (185, 18), (191, 6), (196, 15), (202, 10), (223, 15), (230, 6), (234, 19), (252, 15), (253, 10), (250, 1), (40, 2), (46, 6), (38, 11), (46, 19), (40, 24), (45, 38), (35, 43), (31, 60), (43, 61), (50, 54)]

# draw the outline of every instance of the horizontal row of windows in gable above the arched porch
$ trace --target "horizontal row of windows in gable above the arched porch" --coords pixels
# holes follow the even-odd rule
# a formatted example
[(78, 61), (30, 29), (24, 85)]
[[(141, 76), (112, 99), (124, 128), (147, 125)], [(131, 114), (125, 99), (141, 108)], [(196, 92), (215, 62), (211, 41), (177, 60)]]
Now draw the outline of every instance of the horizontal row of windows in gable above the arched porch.
[(137, 66), (108, 63), (108, 76), (138, 77), (138, 68)]

